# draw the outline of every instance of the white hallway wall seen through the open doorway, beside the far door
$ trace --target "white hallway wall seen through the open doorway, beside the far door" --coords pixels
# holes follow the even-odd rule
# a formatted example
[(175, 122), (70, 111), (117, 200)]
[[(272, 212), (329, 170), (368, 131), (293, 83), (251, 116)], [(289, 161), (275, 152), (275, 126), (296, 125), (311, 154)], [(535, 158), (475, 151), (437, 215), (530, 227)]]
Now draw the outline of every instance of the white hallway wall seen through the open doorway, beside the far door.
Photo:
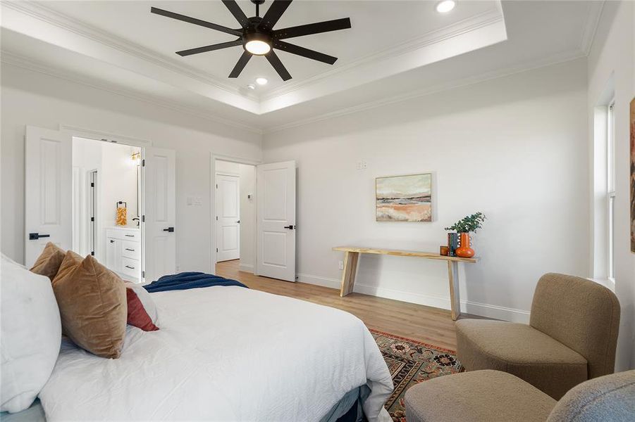
[[(240, 269), (254, 272), (256, 260), (256, 168), (253, 165), (216, 160), (216, 172), (240, 179)], [(247, 196), (252, 198), (248, 199)]]

